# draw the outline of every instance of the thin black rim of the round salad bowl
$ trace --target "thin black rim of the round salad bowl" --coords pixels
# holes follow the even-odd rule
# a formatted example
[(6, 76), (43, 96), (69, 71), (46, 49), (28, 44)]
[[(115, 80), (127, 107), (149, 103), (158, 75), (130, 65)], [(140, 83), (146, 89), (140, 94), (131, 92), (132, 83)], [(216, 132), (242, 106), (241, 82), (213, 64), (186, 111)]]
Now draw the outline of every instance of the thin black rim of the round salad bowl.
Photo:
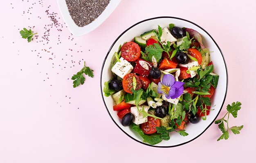
[[(115, 122), (115, 120), (112, 118), (110, 112), (108, 111), (108, 107), (106, 106), (106, 103), (105, 103), (105, 100), (104, 100), (104, 97), (103, 97), (104, 95), (103, 95), (103, 89), (102, 89), (101, 83), (102, 83), (102, 71), (103, 71), (103, 67), (105, 66), (105, 61), (106, 61), (106, 59), (107, 59), (107, 57), (108, 57), (108, 55), (109, 55), (109, 53), (110, 53), (112, 47), (113, 47), (113, 46), (115, 45), (115, 43), (117, 42), (117, 40), (118, 40), (124, 33), (126, 33), (129, 29), (131, 29), (132, 27), (134, 27), (134, 26), (136, 26), (136, 25), (138, 25), (138, 24), (140, 24), (140, 23), (142, 23), (142, 22), (146, 22), (146, 21), (153, 20), (153, 19), (159, 19), (159, 18), (173, 18), (173, 19), (179, 19), (179, 20), (184, 20), (184, 21), (186, 21), (186, 22), (190, 22), (191, 24), (193, 24), (193, 25), (199, 27), (200, 29), (202, 29), (205, 33), (207, 33), (207, 34), (210, 36), (210, 38), (213, 40), (213, 42), (216, 44), (216, 46), (217, 46), (218, 49), (220, 50), (220, 53), (221, 53), (221, 55), (222, 55), (222, 58), (223, 58), (223, 61), (224, 61), (224, 64), (225, 64), (226, 74), (227, 74), (226, 92), (225, 92), (225, 96), (224, 96), (222, 105), (221, 105), (221, 107), (220, 107), (220, 111), (221, 111), (221, 109), (222, 109), (222, 107), (223, 107), (223, 105), (224, 105), (224, 103), (225, 103), (225, 99), (226, 99), (226, 96), (227, 96), (227, 88), (228, 88), (228, 71), (227, 71), (227, 64), (226, 64), (225, 58), (224, 58), (224, 56), (223, 56), (223, 54), (222, 54), (222, 51), (221, 51), (220, 47), (219, 47), (218, 44), (215, 42), (215, 40), (211, 37), (211, 35), (210, 35), (206, 30), (204, 30), (202, 27), (200, 27), (199, 25), (197, 25), (197, 24), (195, 24), (194, 22), (191, 22), (191, 21), (189, 21), (189, 20), (186, 20), (186, 19), (177, 18), (177, 17), (172, 17), (172, 16), (159, 16), (159, 17), (149, 18), (149, 19), (145, 19), (145, 20), (142, 20), (142, 21), (140, 21), (140, 22), (137, 22), (136, 24), (134, 24), (134, 25), (132, 25), (131, 27), (129, 27), (128, 29), (126, 29), (123, 33), (121, 33), (121, 34), (117, 37), (117, 39), (113, 42), (113, 44), (111, 45), (110, 49), (108, 50), (108, 53), (107, 53), (107, 55), (106, 55), (106, 57), (105, 57), (105, 59), (104, 59), (104, 61), (103, 61), (102, 67), (101, 67), (101, 77), (100, 77), (101, 97), (102, 97), (102, 99), (103, 99), (103, 103), (104, 103), (104, 105), (105, 105), (105, 107), (106, 107), (106, 109), (107, 109), (107, 112), (108, 112), (110, 118), (112, 119), (112, 121), (113, 121), (116, 125), (117, 125), (117, 123)], [(132, 138), (133, 140), (135, 140), (135, 141), (137, 141), (137, 142), (139, 142), (139, 143), (141, 143), (141, 144), (148, 145), (148, 146), (150, 146), (150, 147), (160, 147), (160, 148), (177, 147), (177, 146), (180, 146), (180, 145), (184, 145), (184, 144), (186, 144), (186, 143), (189, 143), (189, 142), (195, 140), (196, 138), (198, 138), (199, 136), (201, 136), (201, 135), (213, 124), (213, 122), (216, 120), (216, 118), (217, 118), (218, 115), (220, 114), (220, 111), (218, 112), (218, 114), (216, 115), (216, 117), (213, 119), (213, 121), (206, 127), (206, 129), (205, 129), (202, 133), (200, 133), (198, 136), (196, 136), (195, 138), (193, 138), (193, 139), (191, 139), (191, 140), (189, 140), (189, 141), (186, 141), (186, 142), (184, 142), (184, 143), (180, 143), (180, 144), (177, 144), (177, 145), (171, 145), (171, 146), (150, 145), (150, 144), (147, 144), (147, 143), (138, 141), (137, 139), (133, 138), (133, 137), (130, 136), (128, 133), (126, 133), (124, 130), (122, 130), (121, 127), (119, 127), (119, 125), (117, 125), (117, 127), (118, 127), (121, 131), (123, 131), (127, 136), (129, 136), (130, 138)]]

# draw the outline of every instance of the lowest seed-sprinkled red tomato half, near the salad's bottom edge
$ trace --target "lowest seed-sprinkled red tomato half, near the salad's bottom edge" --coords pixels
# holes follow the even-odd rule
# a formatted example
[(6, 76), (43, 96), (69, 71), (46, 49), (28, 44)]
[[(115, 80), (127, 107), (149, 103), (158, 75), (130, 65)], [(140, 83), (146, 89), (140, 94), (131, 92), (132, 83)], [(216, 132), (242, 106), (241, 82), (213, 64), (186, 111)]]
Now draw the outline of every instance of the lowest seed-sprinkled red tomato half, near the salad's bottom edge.
[(155, 119), (151, 116), (148, 116), (148, 122), (142, 123), (141, 129), (144, 132), (144, 134), (153, 134), (157, 132), (155, 127), (159, 127), (159, 126), (160, 126), (159, 119)]

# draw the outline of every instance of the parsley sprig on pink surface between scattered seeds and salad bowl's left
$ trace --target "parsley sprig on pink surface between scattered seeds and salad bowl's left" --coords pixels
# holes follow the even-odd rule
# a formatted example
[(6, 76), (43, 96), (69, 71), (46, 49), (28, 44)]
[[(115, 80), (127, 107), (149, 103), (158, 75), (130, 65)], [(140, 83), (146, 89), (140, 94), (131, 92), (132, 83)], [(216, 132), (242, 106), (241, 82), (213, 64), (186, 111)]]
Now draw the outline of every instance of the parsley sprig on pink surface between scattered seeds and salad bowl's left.
[(85, 82), (85, 77), (83, 76), (83, 74), (88, 75), (91, 78), (93, 78), (93, 76), (94, 76), (93, 75), (93, 70), (90, 69), (90, 67), (85, 66), (85, 62), (84, 62), (83, 68), (79, 72), (74, 74), (71, 78), (72, 80), (74, 80), (73, 81), (73, 87), (74, 88), (78, 87), (80, 84), (83, 85), (83, 83)]

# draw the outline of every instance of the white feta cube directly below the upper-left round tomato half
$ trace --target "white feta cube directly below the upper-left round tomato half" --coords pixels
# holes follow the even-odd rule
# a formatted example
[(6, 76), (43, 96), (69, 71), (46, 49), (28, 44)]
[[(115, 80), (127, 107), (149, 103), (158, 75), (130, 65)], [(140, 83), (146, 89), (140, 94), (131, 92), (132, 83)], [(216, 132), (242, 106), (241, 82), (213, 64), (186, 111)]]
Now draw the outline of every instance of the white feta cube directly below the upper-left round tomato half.
[(124, 78), (126, 74), (129, 74), (133, 67), (132, 65), (125, 60), (123, 57), (120, 58), (121, 62), (117, 62), (111, 69), (113, 73), (115, 73), (120, 78)]

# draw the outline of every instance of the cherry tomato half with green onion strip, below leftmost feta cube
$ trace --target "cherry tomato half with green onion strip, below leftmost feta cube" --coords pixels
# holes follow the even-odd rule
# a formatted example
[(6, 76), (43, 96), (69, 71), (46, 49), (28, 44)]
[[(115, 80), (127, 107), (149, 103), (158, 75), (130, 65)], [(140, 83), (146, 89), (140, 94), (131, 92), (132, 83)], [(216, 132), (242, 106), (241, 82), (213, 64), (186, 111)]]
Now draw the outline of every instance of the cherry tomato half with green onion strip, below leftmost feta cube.
[(123, 84), (123, 87), (124, 87), (124, 91), (127, 92), (127, 93), (130, 93), (130, 94), (132, 94), (133, 76), (136, 78), (136, 82), (137, 82), (135, 90), (141, 89), (141, 86), (142, 86), (141, 80), (139, 79), (139, 77), (137, 75), (127, 74), (126, 76), (124, 76), (122, 84)]

